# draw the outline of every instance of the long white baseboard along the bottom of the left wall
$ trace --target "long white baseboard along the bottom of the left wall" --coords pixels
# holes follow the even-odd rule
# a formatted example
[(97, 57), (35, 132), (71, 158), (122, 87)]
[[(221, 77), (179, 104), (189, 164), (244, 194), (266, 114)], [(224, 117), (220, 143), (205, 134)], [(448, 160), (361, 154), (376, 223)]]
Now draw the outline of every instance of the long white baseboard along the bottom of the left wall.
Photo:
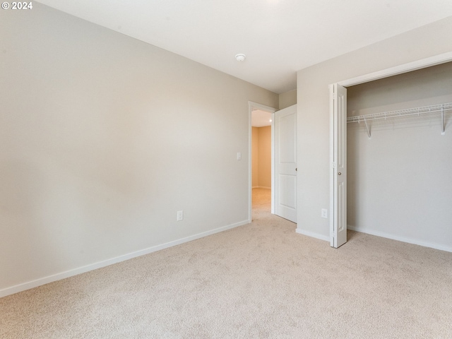
[(79, 267), (79, 268), (75, 268), (73, 270), (66, 270), (66, 271), (61, 272), (61, 273), (48, 275), (47, 277), (39, 278), (39, 279), (36, 279), (36, 280), (31, 280), (31, 281), (28, 281), (27, 283), (22, 283), (22, 284), (11, 286), (11, 287), (6, 287), (6, 288), (0, 290), (0, 298), (1, 297), (6, 297), (7, 295), (13, 295), (14, 293), (22, 292), (22, 291), (25, 291), (25, 290), (30, 290), (30, 288), (34, 288), (34, 287), (38, 287), (38, 286), (45, 285), (45, 284), (48, 284), (48, 283), (52, 283), (52, 282), (57, 281), (57, 280), (69, 278), (69, 277), (72, 277), (74, 275), (78, 275), (78, 274), (81, 274), (81, 273), (89, 272), (90, 270), (96, 270), (97, 268), (102, 268), (102, 267), (105, 267), (105, 266), (109, 266), (109, 265), (112, 265), (114, 263), (120, 263), (121, 261), (126, 261), (126, 260), (129, 260), (131, 258), (136, 258), (137, 256), (144, 256), (145, 254), (150, 254), (150, 253), (153, 253), (155, 251), (160, 251), (161, 249), (167, 249), (168, 247), (176, 246), (176, 245), (179, 245), (179, 244), (184, 244), (185, 242), (191, 242), (191, 241), (196, 240), (196, 239), (207, 237), (208, 235), (212, 235), (212, 234), (215, 234), (215, 233), (219, 233), (219, 232), (223, 232), (223, 231), (226, 231), (226, 230), (230, 230), (230, 229), (232, 229), (234, 227), (239, 227), (239, 226), (246, 225), (246, 224), (249, 224), (249, 220), (244, 220), (242, 222), (236, 222), (236, 223), (234, 223), (232, 225), (218, 227), (218, 228), (215, 228), (215, 230), (210, 230), (210, 231), (207, 231), (207, 232), (194, 234), (194, 235), (192, 235), (190, 237), (185, 237), (185, 238), (182, 238), (182, 239), (174, 240), (172, 242), (167, 242), (165, 244), (160, 244), (160, 245), (148, 247), (147, 249), (142, 249), (140, 251), (135, 251), (135, 252), (132, 252), (132, 253), (129, 253), (129, 254), (124, 254), (123, 256), (117, 256), (115, 258), (107, 259), (105, 261), (99, 261), (97, 263), (92, 263), (90, 265), (82, 266), (82, 267)]

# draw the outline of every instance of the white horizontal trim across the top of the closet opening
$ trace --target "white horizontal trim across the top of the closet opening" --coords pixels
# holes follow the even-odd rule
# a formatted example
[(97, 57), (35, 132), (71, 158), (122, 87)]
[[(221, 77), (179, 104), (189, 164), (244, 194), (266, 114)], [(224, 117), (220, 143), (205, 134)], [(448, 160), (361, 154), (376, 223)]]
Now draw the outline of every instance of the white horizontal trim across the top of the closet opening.
[(417, 71), (418, 69), (424, 69), (426, 67), (444, 64), (448, 61), (452, 61), (452, 52), (438, 54), (434, 57), (412, 61), (408, 64), (391, 67), (390, 69), (383, 69), (381, 71), (357, 76), (356, 78), (339, 81), (338, 84), (343, 87), (359, 85), (360, 83), (368, 83), (369, 81), (388, 78), (389, 76), (396, 76), (398, 74), (408, 73), (411, 71)]

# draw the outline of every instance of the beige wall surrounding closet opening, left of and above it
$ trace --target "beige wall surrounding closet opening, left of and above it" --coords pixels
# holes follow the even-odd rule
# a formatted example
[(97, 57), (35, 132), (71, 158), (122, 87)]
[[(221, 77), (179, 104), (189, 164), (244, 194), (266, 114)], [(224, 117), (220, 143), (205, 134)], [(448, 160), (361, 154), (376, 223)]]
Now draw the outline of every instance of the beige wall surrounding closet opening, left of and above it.
[(451, 31), (452, 18), (446, 18), (297, 73), (297, 152), (303, 164), (297, 190), (298, 232), (329, 239), (329, 220), (321, 218), (321, 208), (329, 206), (328, 85), (450, 52)]

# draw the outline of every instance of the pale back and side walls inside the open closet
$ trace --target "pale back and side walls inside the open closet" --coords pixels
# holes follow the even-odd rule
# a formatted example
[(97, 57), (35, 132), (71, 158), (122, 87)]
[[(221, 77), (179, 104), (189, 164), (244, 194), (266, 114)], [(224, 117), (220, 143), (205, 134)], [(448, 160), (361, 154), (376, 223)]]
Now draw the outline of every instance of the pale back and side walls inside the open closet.
[[(347, 116), (452, 102), (452, 63), (347, 88)], [(347, 224), (452, 251), (452, 112), (347, 124)]]

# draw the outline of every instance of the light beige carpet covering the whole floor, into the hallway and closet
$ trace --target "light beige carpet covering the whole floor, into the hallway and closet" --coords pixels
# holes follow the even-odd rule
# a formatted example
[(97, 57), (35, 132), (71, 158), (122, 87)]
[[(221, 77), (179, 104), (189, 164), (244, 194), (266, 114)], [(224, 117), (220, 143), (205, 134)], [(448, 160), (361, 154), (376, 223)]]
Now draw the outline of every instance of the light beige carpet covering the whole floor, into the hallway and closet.
[(452, 338), (452, 253), (251, 224), (0, 299), (0, 338)]

